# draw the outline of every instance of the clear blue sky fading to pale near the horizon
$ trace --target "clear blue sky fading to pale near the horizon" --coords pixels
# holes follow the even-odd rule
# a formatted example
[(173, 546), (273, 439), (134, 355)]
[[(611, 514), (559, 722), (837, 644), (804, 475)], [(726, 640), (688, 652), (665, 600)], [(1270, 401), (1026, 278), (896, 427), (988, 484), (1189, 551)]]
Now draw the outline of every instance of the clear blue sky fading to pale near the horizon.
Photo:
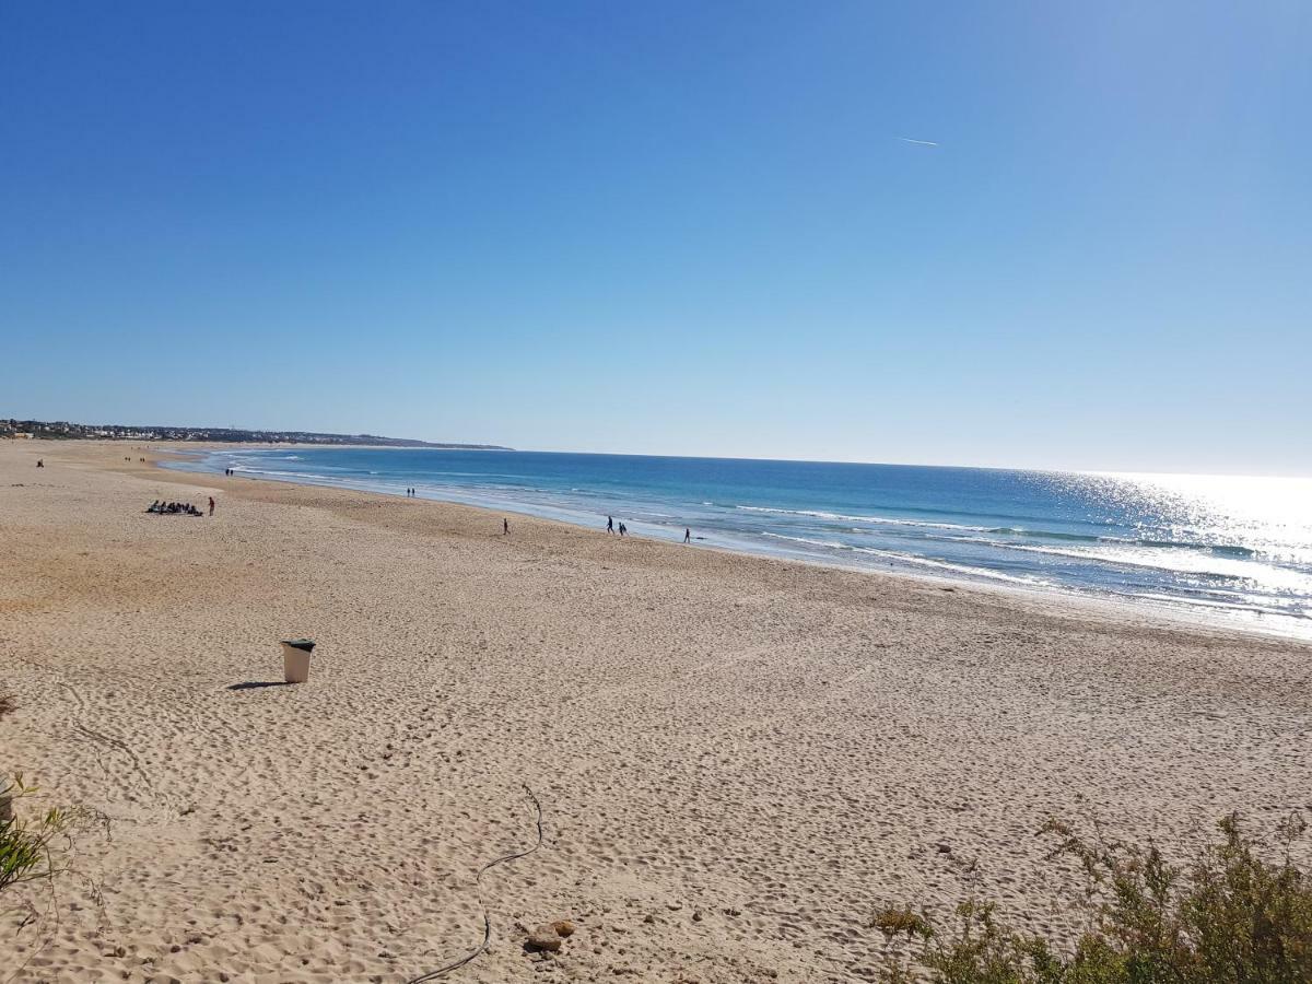
[(1309, 474), (1309, 52), (1305, 0), (9, 0), (0, 416)]

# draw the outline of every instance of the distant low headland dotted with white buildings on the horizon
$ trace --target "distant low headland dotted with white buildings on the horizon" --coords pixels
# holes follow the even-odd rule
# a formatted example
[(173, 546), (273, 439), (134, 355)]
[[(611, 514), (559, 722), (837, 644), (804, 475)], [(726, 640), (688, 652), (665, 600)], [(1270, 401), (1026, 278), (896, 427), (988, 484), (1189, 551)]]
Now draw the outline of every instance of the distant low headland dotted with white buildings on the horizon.
[(203, 441), (215, 443), (354, 445), (509, 451), (500, 445), (457, 445), (377, 434), (319, 434), (311, 430), (71, 424), (66, 420), (0, 420), (0, 438), (55, 441)]

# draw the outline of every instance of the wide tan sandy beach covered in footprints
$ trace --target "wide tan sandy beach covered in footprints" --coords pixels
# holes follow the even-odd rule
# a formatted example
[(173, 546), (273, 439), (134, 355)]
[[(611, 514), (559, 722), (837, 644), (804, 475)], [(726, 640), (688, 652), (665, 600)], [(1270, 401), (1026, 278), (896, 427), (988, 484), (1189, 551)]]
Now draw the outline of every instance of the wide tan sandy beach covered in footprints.
[(1186, 850), (1312, 800), (1305, 646), (136, 447), (0, 442), (0, 770), (109, 817), (0, 905), (0, 981), (409, 980), (525, 786), (446, 980), (870, 979), (884, 904), (1078, 926), (1050, 816)]

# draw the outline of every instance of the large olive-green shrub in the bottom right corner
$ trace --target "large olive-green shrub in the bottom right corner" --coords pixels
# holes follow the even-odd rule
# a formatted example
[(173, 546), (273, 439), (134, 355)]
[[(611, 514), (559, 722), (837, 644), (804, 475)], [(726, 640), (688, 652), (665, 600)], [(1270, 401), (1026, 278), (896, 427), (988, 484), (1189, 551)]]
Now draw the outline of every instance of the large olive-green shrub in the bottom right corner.
[(1237, 815), (1219, 828), (1218, 842), (1178, 867), (1152, 842), (1090, 841), (1050, 821), (1043, 832), (1059, 838), (1050, 858), (1075, 858), (1085, 879), (1089, 925), (1073, 950), (1002, 926), (988, 903), (963, 903), (951, 934), (928, 918), (899, 922), (909, 909), (887, 909), (875, 925), (890, 939), (905, 933), (921, 946), (911, 956), (890, 955), (884, 981), (1308, 984), (1312, 876), (1294, 859), (1307, 824), (1286, 819), (1265, 855)]

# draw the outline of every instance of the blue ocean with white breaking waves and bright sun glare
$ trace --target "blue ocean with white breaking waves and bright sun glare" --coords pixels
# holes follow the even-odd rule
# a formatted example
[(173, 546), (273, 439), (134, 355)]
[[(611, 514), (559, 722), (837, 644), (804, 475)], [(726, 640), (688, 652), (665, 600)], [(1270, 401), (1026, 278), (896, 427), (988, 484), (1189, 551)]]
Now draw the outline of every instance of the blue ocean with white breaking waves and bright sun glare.
[(813, 563), (1119, 598), (1312, 639), (1312, 479), (430, 449), (168, 467), (530, 513)]

